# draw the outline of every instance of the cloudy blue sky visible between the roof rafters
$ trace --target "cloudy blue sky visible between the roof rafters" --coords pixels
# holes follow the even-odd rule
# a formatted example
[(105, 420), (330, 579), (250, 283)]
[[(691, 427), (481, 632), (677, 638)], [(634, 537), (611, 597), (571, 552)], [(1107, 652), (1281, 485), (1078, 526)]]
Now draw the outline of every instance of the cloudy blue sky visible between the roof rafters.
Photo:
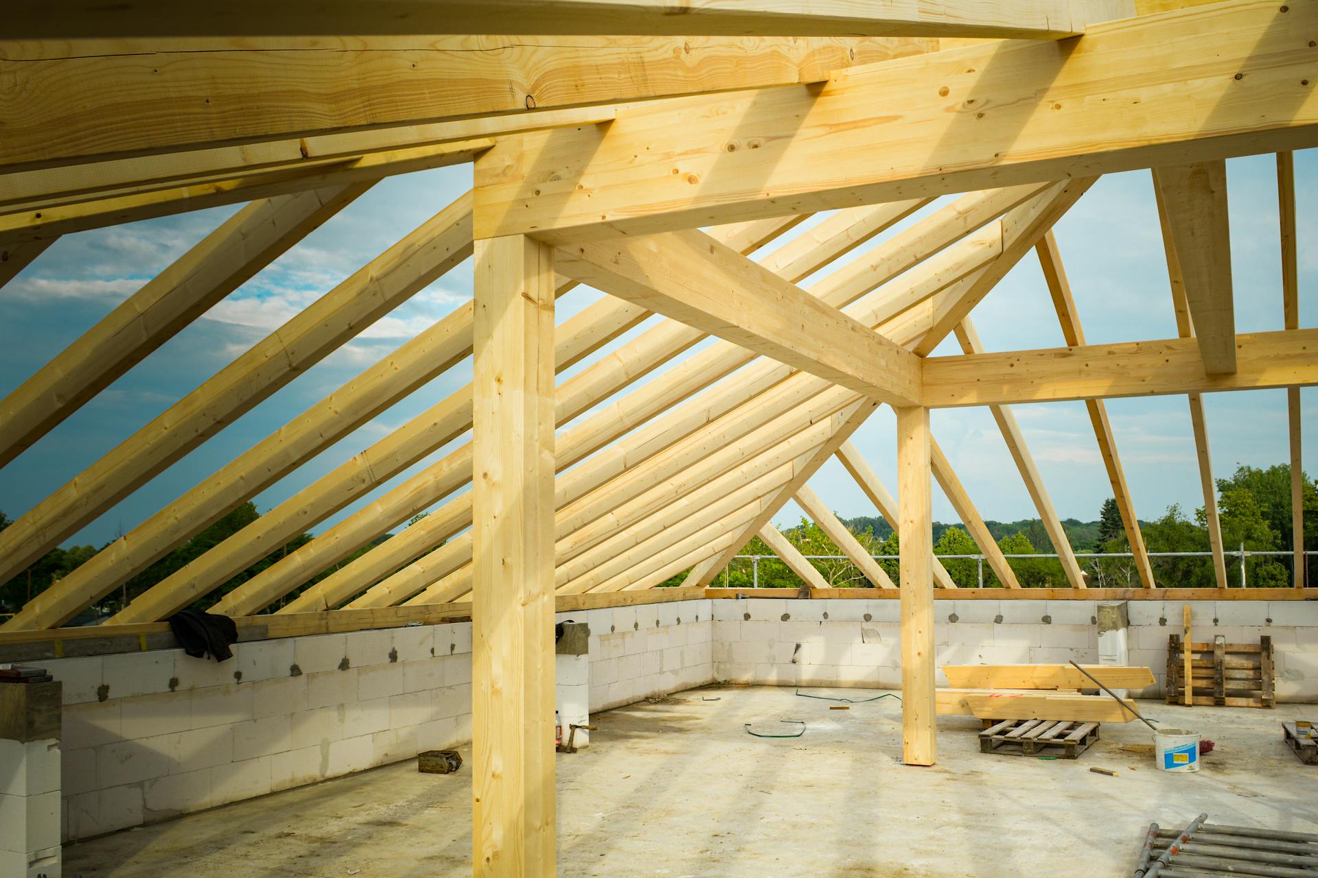
[[(1309, 209), (1311, 199), (1306, 195), (1314, 192), (1318, 180), (1318, 150), (1297, 154), (1296, 174), (1300, 320), (1302, 326), (1313, 326), (1318, 323), (1314, 296), (1318, 283), (1318, 216)], [(11, 517), (25, 512), (274, 330), (297, 309), (448, 204), (469, 184), (471, 168), (465, 166), (377, 184), (0, 470), (0, 509)], [(1275, 158), (1232, 159), (1228, 162), (1228, 186), (1236, 326), (1240, 332), (1281, 329)], [(905, 224), (919, 220), (938, 204), (941, 201)], [(220, 208), (84, 232), (55, 242), (0, 290), (0, 394), (17, 387), (236, 209)], [(1176, 336), (1148, 171), (1101, 179), (1061, 220), (1056, 234), (1089, 342)], [(859, 257), (869, 246), (873, 244), (851, 254), (851, 258)], [(100, 545), (119, 532), (129, 530), (294, 413), (469, 299), (471, 290), (468, 261), (125, 498), (70, 542)], [(568, 294), (559, 301), (559, 319), (571, 316), (598, 295), (585, 288)], [(1007, 275), (975, 309), (974, 319), (988, 350), (1064, 344), (1033, 255)], [(625, 338), (650, 325), (652, 321)], [(936, 353), (958, 353), (953, 348), (954, 341), (945, 342)], [(602, 353), (608, 350), (610, 348)], [(471, 362), (467, 361), (260, 494), (257, 507), (265, 511), (290, 496), (469, 379)], [(1310, 474), (1318, 474), (1318, 450), (1313, 449), (1313, 442), (1318, 440), (1311, 438), (1318, 424), (1318, 391), (1305, 390), (1304, 404), (1304, 428), (1309, 440), (1305, 466)], [(1238, 463), (1267, 466), (1286, 459), (1285, 391), (1213, 394), (1206, 396), (1206, 405), (1217, 475), (1230, 474)], [(1111, 491), (1083, 404), (1019, 405), (1015, 411), (1060, 515), (1095, 519)], [(1173, 503), (1180, 503), (1188, 512), (1201, 505), (1198, 465), (1185, 398), (1111, 400), (1108, 412), (1140, 517), (1156, 517)], [(986, 409), (937, 411), (933, 413), (933, 429), (982, 515), (998, 520), (1036, 515)], [(857, 433), (855, 442), (879, 477), (890, 487), (895, 486), (895, 420), (891, 411), (880, 408)], [(432, 462), (444, 450), (440, 449), (398, 479)], [(874, 515), (869, 502), (836, 461), (830, 461), (811, 486), (844, 516)], [(330, 523), (360, 505), (349, 507)], [(776, 523), (792, 524), (799, 515), (799, 509), (789, 504)], [(956, 519), (937, 488), (934, 516), (944, 521)]]

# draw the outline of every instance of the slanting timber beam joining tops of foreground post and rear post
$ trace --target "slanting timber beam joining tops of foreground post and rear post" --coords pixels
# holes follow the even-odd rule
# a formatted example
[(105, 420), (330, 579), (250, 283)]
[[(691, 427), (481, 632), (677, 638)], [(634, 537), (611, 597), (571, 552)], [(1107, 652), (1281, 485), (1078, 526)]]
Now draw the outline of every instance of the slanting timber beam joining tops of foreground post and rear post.
[(920, 358), (699, 230), (573, 244), (564, 274), (850, 387), (919, 401)]

